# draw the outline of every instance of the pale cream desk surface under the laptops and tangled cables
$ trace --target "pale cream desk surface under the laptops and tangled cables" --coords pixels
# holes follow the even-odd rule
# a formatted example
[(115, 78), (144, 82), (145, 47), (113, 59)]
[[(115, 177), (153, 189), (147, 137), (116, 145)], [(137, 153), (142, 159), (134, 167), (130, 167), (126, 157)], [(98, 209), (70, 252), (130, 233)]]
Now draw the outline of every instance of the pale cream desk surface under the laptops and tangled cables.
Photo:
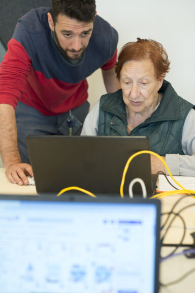
[[(5, 169), (0, 168), (0, 194), (20, 194), (20, 195), (37, 195), (35, 186), (18, 186), (9, 182), (5, 175)], [(172, 195), (161, 199), (162, 207), (161, 212), (170, 212), (176, 200), (181, 198), (182, 195)], [(195, 203), (195, 200), (188, 196), (183, 198), (177, 207), (175, 212), (180, 211), (182, 208), (187, 207), (189, 204)], [(191, 232), (195, 231), (195, 206), (186, 209), (181, 213), (186, 222), (186, 236), (184, 238), (184, 244), (192, 244)], [(166, 216), (161, 218), (161, 222), (165, 220)], [(165, 229), (162, 233), (165, 232)], [(179, 243), (182, 237), (183, 226), (181, 220), (178, 218), (173, 222), (172, 228), (169, 230), (165, 243)], [(184, 248), (179, 248), (178, 251), (182, 251)], [(173, 248), (163, 247), (161, 252), (164, 255), (169, 254)], [(189, 270), (195, 267), (195, 259), (188, 259), (183, 255), (175, 256), (160, 263), (160, 282), (168, 283), (176, 280), (187, 273)], [(194, 274), (190, 274), (181, 282), (168, 287), (160, 287), (159, 293), (192, 293), (194, 292)]]

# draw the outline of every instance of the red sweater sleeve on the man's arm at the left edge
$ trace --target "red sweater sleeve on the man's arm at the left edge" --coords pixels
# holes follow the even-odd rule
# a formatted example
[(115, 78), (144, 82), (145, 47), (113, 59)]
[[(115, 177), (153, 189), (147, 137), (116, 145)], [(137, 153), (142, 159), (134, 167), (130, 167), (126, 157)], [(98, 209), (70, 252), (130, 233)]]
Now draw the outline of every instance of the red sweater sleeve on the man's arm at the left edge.
[(10, 104), (16, 109), (25, 91), (30, 67), (31, 60), (26, 50), (12, 38), (0, 67), (0, 104)]

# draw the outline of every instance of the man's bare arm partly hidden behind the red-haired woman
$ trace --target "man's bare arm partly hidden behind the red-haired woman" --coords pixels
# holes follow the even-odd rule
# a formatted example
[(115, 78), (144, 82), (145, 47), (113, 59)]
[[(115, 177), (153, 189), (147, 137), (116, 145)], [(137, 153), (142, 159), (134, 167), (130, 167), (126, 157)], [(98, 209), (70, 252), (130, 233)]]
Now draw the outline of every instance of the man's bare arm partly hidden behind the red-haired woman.
[(111, 70), (102, 70), (102, 76), (107, 93), (114, 93), (120, 89), (114, 68)]

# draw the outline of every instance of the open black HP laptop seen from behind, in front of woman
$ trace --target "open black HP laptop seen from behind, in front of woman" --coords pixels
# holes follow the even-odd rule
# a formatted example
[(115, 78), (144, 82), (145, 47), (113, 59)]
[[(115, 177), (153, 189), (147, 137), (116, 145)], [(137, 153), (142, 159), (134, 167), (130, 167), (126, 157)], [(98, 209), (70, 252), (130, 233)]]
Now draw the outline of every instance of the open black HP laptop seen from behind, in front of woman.
[[(122, 173), (130, 156), (149, 150), (149, 139), (143, 136), (27, 136), (30, 163), (36, 189), (41, 193), (58, 193), (77, 186), (94, 194), (119, 195)], [(135, 157), (129, 165), (124, 194), (129, 183), (141, 178), (147, 194), (152, 194), (150, 155)], [(139, 183), (134, 194), (142, 194)]]

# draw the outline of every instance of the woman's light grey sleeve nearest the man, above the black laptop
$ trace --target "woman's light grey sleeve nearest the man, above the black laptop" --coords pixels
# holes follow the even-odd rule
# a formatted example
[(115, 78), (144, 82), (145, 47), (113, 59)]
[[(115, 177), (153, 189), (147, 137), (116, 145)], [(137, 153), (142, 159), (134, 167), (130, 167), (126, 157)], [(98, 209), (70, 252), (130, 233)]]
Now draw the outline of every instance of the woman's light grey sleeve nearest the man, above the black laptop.
[(98, 135), (99, 109), (100, 100), (95, 103), (91, 111), (87, 114), (83, 124), (81, 135)]

